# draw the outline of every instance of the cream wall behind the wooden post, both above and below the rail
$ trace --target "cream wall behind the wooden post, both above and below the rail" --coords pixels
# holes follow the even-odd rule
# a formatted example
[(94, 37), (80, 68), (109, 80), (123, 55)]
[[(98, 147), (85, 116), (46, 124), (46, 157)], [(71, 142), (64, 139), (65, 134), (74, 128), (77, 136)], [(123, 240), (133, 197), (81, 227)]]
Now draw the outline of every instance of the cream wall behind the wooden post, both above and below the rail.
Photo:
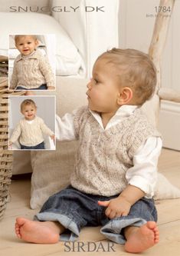
[[(155, 24), (155, 6), (160, 0), (120, 0), (119, 47), (148, 52)], [(175, 6), (162, 55), (162, 87), (180, 91), (180, 1)], [(163, 101), (159, 131), (165, 148), (180, 150), (180, 104)]]

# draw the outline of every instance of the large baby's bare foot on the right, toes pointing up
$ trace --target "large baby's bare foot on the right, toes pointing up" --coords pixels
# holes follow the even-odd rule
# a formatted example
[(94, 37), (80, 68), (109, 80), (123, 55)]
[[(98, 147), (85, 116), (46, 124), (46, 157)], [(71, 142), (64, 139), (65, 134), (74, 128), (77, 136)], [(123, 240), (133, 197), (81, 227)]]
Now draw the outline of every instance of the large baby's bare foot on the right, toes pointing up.
[(154, 221), (148, 221), (142, 227), (129, 234), (125, 250), (132, 253), (145, 251), (159, 242), (159, 230)]

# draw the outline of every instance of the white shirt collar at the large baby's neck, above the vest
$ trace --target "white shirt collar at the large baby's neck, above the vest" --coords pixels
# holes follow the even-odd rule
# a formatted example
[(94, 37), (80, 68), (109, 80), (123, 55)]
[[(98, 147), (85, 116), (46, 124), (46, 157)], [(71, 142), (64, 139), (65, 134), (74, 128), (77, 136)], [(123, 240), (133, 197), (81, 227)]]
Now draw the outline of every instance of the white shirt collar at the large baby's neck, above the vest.
[(103, 122), (100, 117), (100, 114), (98, 114), (95, 111), (91, 111), (91, 110), (90, 110), (90, 112), (93, 115), (93, 117), (98, 121), (101, 128), (103, 128), (103, 130), (107, 130), (110, 127), (112, 127), (113, 125), (118, 124), (119, 121), (123, 121), (124, 118), (127, 118), (127, 117), (129, 117), (129, 115), (132, 115), (133, 112), (136, 110), (136, 108), (138, 108), (137, 105), (123, 105), (120, 108), (118, 108), (118, 110), (116, 111), (116, 114), (113, 115), (113, 117), (110, 119), (110, 121), (106, 125), (105, 129), (103, 128)]

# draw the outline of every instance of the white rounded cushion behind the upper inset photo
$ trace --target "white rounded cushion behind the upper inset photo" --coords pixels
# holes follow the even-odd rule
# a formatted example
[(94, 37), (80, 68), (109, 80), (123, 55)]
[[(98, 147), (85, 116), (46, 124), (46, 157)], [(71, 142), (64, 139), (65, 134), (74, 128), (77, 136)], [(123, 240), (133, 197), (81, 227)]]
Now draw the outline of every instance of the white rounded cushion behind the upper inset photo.
[(83, 69), (83, 61), (74, 43), (61, 25), (51, 16), (39, 13), (8, 13), (0, 15), (0, 55), (8, 55), (9, 35), (56, 35), (56, 75), (77, 75)]

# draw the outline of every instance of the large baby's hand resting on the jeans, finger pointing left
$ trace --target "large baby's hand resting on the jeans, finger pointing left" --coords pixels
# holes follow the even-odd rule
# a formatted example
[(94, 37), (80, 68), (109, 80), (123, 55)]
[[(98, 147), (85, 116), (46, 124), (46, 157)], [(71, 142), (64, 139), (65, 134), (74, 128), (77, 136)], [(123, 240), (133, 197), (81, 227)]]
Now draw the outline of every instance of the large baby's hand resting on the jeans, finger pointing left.
[(129, 214), (131, 204), (125, 198), (111, 199), (110, 201), (98, 201), (98, 204), (106, 207), (105, 214), (108, 218), (117, 218)]

